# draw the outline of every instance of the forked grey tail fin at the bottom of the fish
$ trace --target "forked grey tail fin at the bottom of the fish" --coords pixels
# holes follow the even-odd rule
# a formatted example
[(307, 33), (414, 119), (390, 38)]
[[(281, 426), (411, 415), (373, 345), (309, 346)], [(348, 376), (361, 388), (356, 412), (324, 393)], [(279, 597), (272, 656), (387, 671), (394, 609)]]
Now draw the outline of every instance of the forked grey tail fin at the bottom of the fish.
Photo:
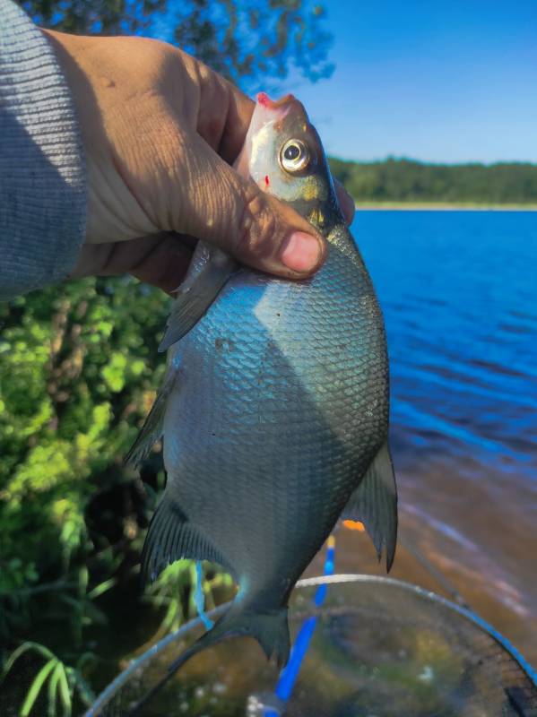
[(254, 637), (263, 648), (268, 660), (275, 657), (278, 667), (287, 664), (290, 652), (289, 624), (287, 620), (287, 607), (264, 612), (249, 609), (235, 609), (231, 606), (229, 611), (205, 633), (200, 639), (179, 655), (178, 659), (169, 666), (172, 674), (180, 669), (186, 661), (195, 654), (220, 643), (229, 637), (247, 635)]

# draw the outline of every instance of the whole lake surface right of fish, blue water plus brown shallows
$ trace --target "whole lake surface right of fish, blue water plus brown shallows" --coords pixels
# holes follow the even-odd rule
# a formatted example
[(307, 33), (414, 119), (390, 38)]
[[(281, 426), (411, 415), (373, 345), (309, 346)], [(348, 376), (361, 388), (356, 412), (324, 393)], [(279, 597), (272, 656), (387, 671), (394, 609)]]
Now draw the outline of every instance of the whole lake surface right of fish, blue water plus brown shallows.
[[(537, 213), (359, 212), (352, 232), (385, 312), (403, 544), (537, 662)], [(342, 534), (337, 569), (369, 567), (366, 543)], [(430, 583), (404, 545), (395, 563)]]

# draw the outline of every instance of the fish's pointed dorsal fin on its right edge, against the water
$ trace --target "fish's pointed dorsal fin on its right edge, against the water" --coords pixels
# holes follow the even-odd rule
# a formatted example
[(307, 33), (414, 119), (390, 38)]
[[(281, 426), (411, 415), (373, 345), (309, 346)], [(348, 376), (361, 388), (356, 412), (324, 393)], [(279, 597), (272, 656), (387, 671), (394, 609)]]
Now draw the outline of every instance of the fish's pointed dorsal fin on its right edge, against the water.
[(386, 549), (386, 568), (389, 570), (397, 543), (397, 486), (387, 441), (352, 493), (342, 518), (364, 523), (379, 560), (382, 550)]

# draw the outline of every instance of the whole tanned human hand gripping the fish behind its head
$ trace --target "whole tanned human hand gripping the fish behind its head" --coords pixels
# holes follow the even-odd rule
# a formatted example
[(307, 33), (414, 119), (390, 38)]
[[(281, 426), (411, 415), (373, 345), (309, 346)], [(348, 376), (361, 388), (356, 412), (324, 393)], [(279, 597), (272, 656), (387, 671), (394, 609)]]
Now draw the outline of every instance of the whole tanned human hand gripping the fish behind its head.
[[(230, 166), (254, 102), (170, 45), (47, 31), (74, 96), (88, 170), (87, 235), (73, 276), (129, 272), (172, 291), (192, 239), (300, 278), (325, 241)], [(354, 203), (338, 195), (349, 221)], [(294, 238), (294, 240), (293, 240)]]

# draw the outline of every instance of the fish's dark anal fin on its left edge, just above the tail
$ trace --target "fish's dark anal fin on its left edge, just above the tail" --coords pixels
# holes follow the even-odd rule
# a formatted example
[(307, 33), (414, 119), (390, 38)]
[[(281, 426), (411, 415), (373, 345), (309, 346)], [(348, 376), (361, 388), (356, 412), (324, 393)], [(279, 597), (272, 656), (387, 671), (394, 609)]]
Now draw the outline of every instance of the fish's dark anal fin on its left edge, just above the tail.
[(214, 548), (202, 531), (190, 523), (168, 489), (152, 516), (142, 551), (142, 582), (154, 580), (166, 566), (183, 557), (219, 563), (232, 572), (227, 560)]

